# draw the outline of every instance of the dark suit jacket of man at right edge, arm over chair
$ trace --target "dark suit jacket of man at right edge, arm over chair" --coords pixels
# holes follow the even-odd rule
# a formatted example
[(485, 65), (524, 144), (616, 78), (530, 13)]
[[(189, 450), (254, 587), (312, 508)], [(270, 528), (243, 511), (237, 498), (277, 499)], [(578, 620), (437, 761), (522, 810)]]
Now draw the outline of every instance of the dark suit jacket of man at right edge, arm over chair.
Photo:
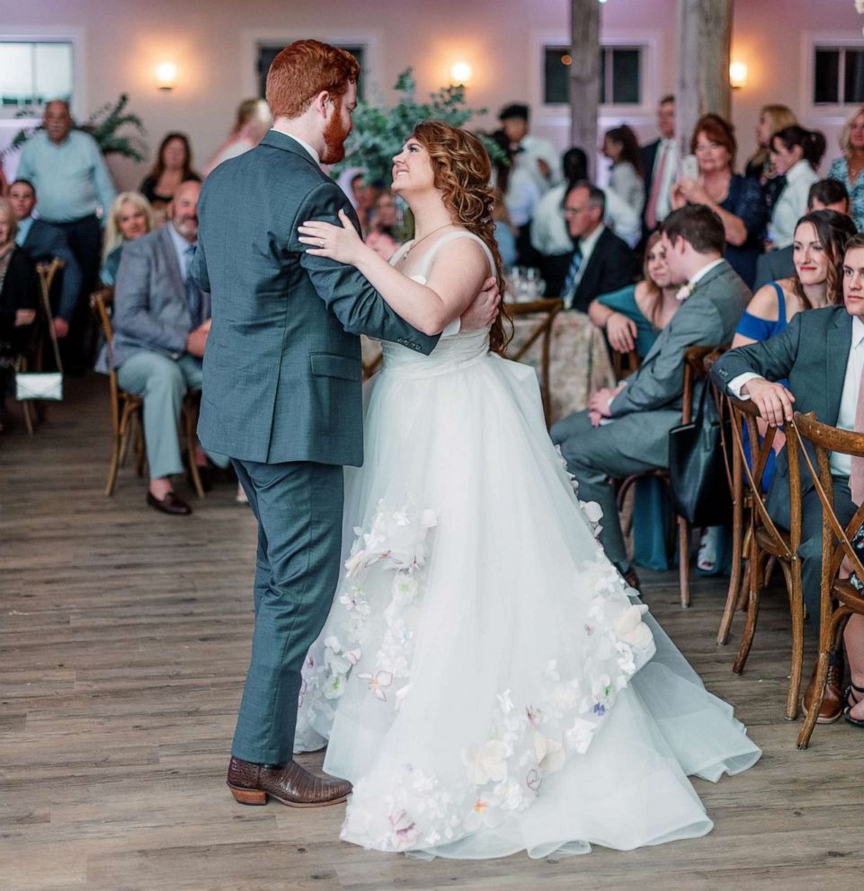
[[(815, 411), (824, 424), (836, 426), (840, 414), (846, 365), (852, 344), (852, 317), (844, 306), (797, 313), (785, 331), (769, 340), (731, 349), (720, 357), (711, 376), (726, 388), (738, 375), (753, 372), (769, 381), (788, 380), (797, 411)], [(788, 456), (777, 456), (774, 479), (766, 498), (772, 516), (788, 525)], [(809, 473), (801, 474), (801, 489), (813, 488)]]

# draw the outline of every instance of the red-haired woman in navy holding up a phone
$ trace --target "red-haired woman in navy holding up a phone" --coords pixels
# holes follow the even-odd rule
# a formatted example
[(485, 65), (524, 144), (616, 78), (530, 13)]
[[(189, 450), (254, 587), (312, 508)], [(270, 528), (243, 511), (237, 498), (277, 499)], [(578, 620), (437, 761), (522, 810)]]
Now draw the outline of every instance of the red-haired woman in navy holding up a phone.
[(672, 207), (710, 207), (723, 221), (723, 256), (747, 287), (753, 287), (768, 214), (759, 183), (733, 172), (736, 150), (735, 128), (717, 114), (703, 115), (690, 140), (699, 178), (684, 178), (672, 186)]

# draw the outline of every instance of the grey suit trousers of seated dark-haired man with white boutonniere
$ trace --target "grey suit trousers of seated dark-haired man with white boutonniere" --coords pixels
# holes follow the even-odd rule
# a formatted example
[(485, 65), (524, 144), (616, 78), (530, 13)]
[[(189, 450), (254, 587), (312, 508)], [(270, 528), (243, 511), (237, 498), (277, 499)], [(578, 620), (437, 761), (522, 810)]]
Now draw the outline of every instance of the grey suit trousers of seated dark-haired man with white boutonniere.
[(579, 498), (596, 501), (603, 511), (600, 540), (606, 556), (619, 571), (627, 572), (630, 568), (627, 546), (610, 477), (621, 479), (631, 473), (652, 470), (657, 465), (624, 454), (620, 448), (618, 421), (592, 427), (587, 410), (559, 420), (550, 436), (552, 442), (561, 446), (567, 468), (579, 483)]

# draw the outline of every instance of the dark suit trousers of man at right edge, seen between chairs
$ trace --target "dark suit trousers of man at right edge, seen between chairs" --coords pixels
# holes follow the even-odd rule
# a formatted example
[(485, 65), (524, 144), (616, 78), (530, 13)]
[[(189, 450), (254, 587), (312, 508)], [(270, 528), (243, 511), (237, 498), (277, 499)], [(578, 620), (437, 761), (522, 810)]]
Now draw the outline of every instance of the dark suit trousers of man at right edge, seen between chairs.
[[(806, 468), (803, 472), (806, 474)], [(849, 477), (835, 476), (833, 482), (834, 513), (845, 526), (854, 516), (856, 509), (849, 491)], [(779, 477), (777, 484), (785, 485), (788, 489), (788, 477)], [(780, 499), (769, 498), (768, 507), (771, 519), (784, 529), (788, 529), (791, 522), (788, 496)], [(809, 616), (809, 626), (818, 636), (819, 606), (822, 599), (822, 502), (815, 489), (805, 492), (801, 498), (801, 544), (798, 546), (798, 556), (801, 558), (801, 588)]]

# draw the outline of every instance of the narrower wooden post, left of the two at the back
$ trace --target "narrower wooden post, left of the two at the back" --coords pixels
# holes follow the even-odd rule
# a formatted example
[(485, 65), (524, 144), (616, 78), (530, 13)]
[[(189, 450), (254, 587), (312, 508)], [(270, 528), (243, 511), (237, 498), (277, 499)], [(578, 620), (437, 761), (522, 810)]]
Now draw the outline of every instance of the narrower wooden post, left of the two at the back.
[(597, 0), (570, 0), (570, 145), (588, 155), (591, 179), (600, 107), (600, 8)]

